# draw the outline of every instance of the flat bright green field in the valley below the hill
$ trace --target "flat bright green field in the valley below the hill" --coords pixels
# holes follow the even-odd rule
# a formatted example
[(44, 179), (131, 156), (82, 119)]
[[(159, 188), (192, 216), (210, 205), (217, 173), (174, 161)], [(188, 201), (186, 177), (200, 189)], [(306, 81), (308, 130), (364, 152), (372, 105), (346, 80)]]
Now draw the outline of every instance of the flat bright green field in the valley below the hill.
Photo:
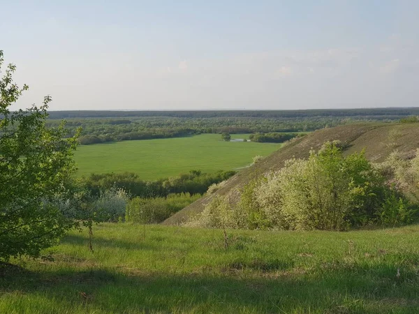
[(152, 180), (177, 176), (189, 170), (233, 170), (249, 165), (254, 156), (267, 156), (279, 147), (281, 144), (223, 142), (219, 134), (203, 134), (79, 146), (75, 161), (79, 176), (135, 172), (141, 179)]

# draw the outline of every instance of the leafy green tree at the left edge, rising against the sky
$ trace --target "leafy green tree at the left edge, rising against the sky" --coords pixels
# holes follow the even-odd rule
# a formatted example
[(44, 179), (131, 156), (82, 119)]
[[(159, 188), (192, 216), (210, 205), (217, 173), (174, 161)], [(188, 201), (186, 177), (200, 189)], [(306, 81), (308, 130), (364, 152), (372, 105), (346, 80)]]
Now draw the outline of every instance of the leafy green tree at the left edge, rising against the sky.
[(54, 204), (68, 191), (75, 171), (78, 135), (64, 139), (64, 123), (45, 126), (50, 96), (41, 107), (11, 111), (28, 87), (17, 87), (12, 77), (15, 66), (2, 70), (3, 62), (0, 50), (0, 260), (8, 260), (37, 257), (74, 226), (74, 220)]

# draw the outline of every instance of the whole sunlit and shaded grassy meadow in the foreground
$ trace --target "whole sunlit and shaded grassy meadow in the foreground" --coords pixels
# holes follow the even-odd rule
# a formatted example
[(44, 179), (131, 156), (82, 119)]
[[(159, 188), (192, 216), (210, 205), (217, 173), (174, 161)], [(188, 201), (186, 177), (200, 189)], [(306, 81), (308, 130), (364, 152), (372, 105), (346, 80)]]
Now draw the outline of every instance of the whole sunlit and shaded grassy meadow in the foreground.
[(0, 313), (419, 313), (418, 232), (103, 224), (0, 268)]

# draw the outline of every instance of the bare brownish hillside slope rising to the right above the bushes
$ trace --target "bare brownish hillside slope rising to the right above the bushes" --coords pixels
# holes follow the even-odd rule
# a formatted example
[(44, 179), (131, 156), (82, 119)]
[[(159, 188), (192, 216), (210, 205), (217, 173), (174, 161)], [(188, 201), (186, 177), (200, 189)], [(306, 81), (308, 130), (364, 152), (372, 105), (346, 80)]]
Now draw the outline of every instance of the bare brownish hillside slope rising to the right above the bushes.
[(345, 154), (365, 149), (365, 156), (369, 160), (379, 162), (384, 160), (392, 151), (397, 149), (406, 158), (411, 158), (419, 147), (419, 124), (349, 124), (335, 128), (316, 130), (302, 137), (284, 148), (275, 151), (267, 158), (260, 160), (234, 177), (228, 179), (223, 188), (211, 195), (207, 195), (188, 207), (177, 212), (163, 222), (164, 225), (177, 225), (190, 216), (198, 214), (217, 195), (229, 195), (232, 202), (239, 196), (240, 188), (247, 184), (255, 175), (270, 170), (277, 170), (290, 158), (307, 158), (310, 149), (319, 149), (326, 141), (340, 140), (348, 149)]

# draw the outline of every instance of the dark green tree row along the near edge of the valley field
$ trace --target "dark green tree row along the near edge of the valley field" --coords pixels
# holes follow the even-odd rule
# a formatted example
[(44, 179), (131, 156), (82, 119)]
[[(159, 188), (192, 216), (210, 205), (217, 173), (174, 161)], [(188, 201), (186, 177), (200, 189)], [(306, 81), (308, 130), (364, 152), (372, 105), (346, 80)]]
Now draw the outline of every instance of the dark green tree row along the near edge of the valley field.
[(93, 196), (101, 195), (111, 188), (122, 188), (131, 197), (154, 198), (167, 197), (170, 194), (189, 193), (190, 195), (203, 195), (212, 184), (218, 184), (232, 177), (235, 171), (218, 171), (212, 174), (191, 170), (180, 174), (179, 177), (170, 177), (156, 181), (145, 181), (138, 174), (126, 172), (122, 174), (105, 173), (91, 174), (81, 179), (82, 184)]

